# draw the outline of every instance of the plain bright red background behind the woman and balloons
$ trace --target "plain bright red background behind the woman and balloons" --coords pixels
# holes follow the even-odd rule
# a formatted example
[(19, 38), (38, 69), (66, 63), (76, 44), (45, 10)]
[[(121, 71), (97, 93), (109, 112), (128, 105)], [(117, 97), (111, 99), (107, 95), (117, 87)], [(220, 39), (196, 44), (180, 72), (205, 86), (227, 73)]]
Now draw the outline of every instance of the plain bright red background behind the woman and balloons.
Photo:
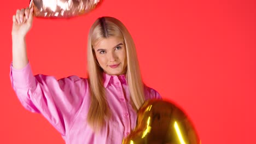
[[(21, 106), (9, 80), (11, 25), (28, 0), (1, 1), (0, 143), (64, 143)], [(100, 16), (124, 22), (144, 81), (179, 104), (202, 143), (256, 143), (255, 1), (105, 0), (69, 20), (34, 19), (27, 51), (34, 74), (86, 77), (86, 39)]]

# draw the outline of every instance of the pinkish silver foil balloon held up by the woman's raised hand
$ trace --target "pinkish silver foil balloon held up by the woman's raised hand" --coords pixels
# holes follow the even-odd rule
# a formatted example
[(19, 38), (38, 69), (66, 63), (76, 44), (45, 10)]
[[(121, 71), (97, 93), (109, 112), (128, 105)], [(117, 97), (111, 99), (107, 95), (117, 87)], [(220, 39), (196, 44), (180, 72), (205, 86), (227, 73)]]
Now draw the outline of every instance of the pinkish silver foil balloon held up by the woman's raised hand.
[(63, 17), (88, 13), (96, 7), (101, 0), (31, 0), (30, 8), (36, 17)]

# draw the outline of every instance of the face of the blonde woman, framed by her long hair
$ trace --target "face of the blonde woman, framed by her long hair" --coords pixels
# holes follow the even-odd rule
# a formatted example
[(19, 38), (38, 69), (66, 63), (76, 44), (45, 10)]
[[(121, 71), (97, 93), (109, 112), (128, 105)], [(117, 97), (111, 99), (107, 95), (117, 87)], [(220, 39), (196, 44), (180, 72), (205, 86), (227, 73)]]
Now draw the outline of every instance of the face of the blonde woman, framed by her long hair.
[(105, 73), (109, 75), (126, 73), (126, 47), (123, 39), (117, 37), (102, 39), (95, 45), (94, 51)]

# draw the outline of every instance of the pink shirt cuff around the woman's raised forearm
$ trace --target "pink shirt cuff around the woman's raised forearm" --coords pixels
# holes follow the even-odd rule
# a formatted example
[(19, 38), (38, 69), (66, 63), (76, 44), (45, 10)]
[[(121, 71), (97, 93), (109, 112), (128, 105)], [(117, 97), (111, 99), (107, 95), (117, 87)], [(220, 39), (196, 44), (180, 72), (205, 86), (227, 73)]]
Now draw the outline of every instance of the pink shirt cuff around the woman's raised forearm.
[(32, 88), (36, 84), (36, 79), (32, 73), (30, 63), (22, 69), (15, 69), (13, 62), (10, 64), (10, 80), (13, 87)]

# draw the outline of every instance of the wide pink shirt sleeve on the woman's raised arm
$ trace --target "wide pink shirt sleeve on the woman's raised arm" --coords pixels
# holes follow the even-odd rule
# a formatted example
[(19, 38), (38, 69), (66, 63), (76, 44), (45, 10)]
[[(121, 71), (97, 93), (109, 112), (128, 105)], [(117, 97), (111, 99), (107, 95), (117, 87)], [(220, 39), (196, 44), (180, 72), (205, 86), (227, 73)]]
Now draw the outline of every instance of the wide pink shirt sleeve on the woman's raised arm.
[(10, 65), (10, 81), (21, 104), (31, 112), (41, 113), (60, 133), (66, 130), (84, 99), (86, 79), (69, 76), (56, 80), (53, 76), (33, 75), (30, 63), (23, 69)]

